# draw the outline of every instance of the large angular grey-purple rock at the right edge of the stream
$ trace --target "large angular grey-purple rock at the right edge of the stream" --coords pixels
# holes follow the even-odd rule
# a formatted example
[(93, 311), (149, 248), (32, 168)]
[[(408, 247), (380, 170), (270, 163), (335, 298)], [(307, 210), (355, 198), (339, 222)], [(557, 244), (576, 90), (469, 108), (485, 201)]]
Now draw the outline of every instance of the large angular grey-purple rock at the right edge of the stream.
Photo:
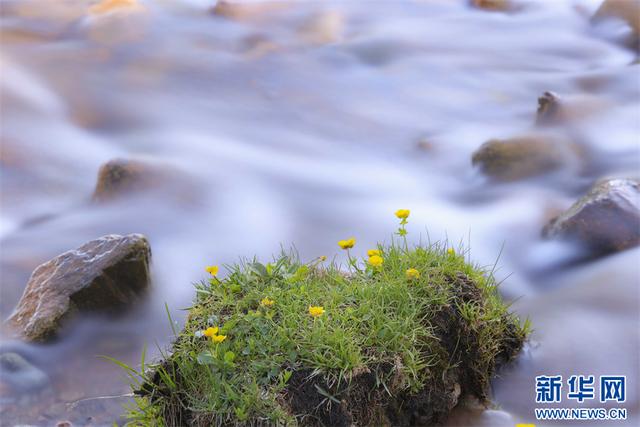
[(640, 181), (609, 179), (596, 183), (567, 211), (544, 228), (548, 238), (582, 243), (605, 255), (640, 244)]

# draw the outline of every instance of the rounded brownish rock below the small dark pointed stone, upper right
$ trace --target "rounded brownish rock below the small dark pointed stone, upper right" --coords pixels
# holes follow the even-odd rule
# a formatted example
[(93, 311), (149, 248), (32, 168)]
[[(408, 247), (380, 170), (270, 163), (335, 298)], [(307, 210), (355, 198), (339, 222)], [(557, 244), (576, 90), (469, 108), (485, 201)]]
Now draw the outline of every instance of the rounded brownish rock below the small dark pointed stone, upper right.
[(546, 135), (492, 139), (473, 153), (471, 162), (492, 179), (516, 181), (575, 165), (579, 150), (569, 141)]

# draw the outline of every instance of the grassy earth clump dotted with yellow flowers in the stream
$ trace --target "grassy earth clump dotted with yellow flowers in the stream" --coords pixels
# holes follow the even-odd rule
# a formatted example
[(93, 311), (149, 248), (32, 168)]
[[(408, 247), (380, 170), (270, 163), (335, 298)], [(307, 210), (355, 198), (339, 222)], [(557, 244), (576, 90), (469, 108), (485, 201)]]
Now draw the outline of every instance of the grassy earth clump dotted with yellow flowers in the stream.
[(132, 422), (429, 425), (462, 397), (486, 401), (528, 328), (492, 275), (440, 244), (377, 251), (382, 263), (350, 256), (347, 269), (282, 254), (198, 284)]

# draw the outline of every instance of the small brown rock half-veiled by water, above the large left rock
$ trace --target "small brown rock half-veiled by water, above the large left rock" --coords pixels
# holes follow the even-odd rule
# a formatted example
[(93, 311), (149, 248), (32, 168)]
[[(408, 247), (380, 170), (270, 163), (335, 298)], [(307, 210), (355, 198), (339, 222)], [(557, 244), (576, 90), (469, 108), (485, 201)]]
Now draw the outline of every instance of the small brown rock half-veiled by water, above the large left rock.
[(161, 174), (137, 160), (116, 159), (105, 163), (98, 171), (93, 199), (106, 201), (124, 194), (144, 190), (161, 181)]

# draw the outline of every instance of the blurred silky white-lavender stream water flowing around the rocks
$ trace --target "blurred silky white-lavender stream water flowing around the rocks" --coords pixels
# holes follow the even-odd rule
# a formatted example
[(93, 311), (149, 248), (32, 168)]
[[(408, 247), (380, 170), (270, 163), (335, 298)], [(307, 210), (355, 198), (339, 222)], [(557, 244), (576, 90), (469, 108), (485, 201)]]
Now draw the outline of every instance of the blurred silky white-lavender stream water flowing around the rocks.
[[(598, 2), (512, 13), (445, 0), (259, 3), (234, 19), (208, 1), (97, 16), (91, 3), (2, 4), (0, 314), (38, 264), (109, 233), (149, 237), (154, 292), (129, 317), (83, 319), (54, 345), (5, 336), (52, 391), (0, 395), (3, 424), (109, 424), (124, 399), (65, 404), (126, 393), (119, 369), (95, 356), (135, 364), (144, 343), (156, 356), (156, 342), (167, 348), (164, 303), (181, 322), (204, 265), (269, 259), (281, 245), (340, 257), (348, 236), (364, 253), (390, 238), (402, 207), (415, 242), (462, 242), (482, 265), (501, 253), (503, 294), (536, 329), (494, 383), (500, 410), (461, 409), (451, 425), (533, 422), (536, 375), (601, 373), (628, 376), (637, 425), (638, 250), (560, 268), (576, 248), (540, 239), (595, 180), (637, 176), (640, 164), (638, 66), (608, 37), (619, 23), (590, 24)], [(486, 181), (471, 153), (532, 132), (547, 90), (578, 99), (552, 132), (580, 144), (585, 165)], [(91, 203), (98, 168), (114, 158), (179, 182)]]

